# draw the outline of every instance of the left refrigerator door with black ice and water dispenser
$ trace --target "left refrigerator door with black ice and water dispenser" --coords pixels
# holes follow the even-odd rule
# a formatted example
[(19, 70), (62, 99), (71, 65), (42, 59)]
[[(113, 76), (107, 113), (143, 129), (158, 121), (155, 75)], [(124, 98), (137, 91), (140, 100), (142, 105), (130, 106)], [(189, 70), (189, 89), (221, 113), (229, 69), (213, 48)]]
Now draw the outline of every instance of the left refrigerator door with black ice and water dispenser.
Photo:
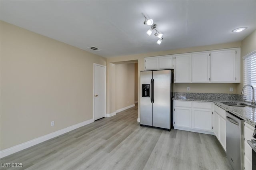
[[(142, 97), (145, 85), (150, 85), (149, 96)], [(140, 72), (140, 125), (152, 126), (152, 71)]]

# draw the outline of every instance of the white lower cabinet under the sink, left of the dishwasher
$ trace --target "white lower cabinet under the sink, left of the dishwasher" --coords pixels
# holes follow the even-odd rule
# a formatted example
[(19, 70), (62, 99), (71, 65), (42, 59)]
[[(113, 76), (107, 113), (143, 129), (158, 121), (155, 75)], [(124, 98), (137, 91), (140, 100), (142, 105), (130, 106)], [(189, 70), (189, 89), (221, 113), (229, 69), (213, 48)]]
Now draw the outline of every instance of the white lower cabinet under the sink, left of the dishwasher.
[(213, 131), (216, 138), (226, 151), (226, 111), (217, 105), (214, 105), (213, 110)]

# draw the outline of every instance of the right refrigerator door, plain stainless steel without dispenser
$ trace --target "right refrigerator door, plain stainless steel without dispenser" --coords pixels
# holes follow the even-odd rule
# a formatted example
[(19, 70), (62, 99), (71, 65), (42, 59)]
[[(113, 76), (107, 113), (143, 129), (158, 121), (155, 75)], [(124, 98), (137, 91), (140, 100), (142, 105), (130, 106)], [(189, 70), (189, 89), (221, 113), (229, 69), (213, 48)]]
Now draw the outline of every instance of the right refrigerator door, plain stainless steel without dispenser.
[(153, 127), (170, 129), (170, 70), (153, 71)]

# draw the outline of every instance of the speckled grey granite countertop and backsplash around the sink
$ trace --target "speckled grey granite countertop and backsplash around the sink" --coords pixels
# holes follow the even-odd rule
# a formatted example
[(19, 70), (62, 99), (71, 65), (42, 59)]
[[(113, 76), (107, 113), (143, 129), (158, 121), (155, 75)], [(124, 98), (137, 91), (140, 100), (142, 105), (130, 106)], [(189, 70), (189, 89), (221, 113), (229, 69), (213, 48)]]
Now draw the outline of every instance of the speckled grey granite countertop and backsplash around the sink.
[(218, 107), (229, 111), (230, 113), (244, 119), (244, 121), (253, 127), (256, 125), (256, 108), (255, 107), (237, 107), (224, 105), (221, 102), (231, 102), (231, 103), (246, 103), (243, 101), (242, 95), (236, 94), (219, 94), (219, 93), (174, 93), (173, 100), (186, 100), (186, 101), (204, 101), (213, 102)]

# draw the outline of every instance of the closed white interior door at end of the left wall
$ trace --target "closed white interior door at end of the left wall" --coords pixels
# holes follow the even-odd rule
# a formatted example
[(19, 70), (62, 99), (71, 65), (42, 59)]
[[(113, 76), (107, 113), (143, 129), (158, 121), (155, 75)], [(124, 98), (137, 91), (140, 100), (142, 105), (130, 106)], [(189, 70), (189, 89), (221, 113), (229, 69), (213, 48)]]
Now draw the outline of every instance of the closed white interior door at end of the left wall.
[(94, 120), (106, 117), (106, 66), (94, 63)]

